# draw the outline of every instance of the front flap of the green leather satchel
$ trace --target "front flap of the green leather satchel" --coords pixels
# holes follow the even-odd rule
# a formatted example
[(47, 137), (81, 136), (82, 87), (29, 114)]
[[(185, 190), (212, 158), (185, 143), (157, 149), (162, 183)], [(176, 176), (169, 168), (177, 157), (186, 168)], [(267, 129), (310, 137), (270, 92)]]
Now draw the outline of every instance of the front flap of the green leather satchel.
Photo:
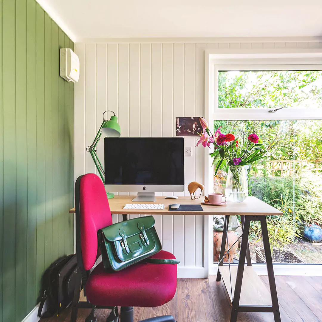
[[(138, 227), (138, 223), (143, 223), (144, 229), (147, 230), (154, 226), (155, 220), (153, 216), (133, 218), (107, 226), (103, 229), (100, 229), (99, 232), (102, 232), (104, 237), (109, 242), (116, 242), (122, 240), (122, 236), (119, 233), (120, 230), (122, 230), (122, 232), (125, 232), (126, 238), (141, 233), (141, 230)], [(141, 227), (142, 226), (140, 226), (140, 228)]]

